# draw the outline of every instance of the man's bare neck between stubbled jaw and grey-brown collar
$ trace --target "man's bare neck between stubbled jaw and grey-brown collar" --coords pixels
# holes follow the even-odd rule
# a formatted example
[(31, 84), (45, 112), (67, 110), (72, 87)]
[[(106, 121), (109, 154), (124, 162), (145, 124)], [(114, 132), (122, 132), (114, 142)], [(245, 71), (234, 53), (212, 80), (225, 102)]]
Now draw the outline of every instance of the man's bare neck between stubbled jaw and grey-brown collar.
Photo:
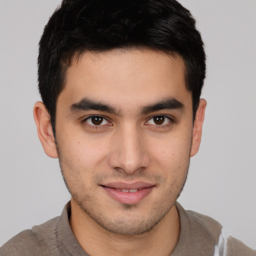
[(168, 256), (179, 236), (179, 216), (175, 205), (150, 231), (139, 235), (111, 233), (91, 219), (71, 199), (69, 223), (80, 246), (91, 256)]

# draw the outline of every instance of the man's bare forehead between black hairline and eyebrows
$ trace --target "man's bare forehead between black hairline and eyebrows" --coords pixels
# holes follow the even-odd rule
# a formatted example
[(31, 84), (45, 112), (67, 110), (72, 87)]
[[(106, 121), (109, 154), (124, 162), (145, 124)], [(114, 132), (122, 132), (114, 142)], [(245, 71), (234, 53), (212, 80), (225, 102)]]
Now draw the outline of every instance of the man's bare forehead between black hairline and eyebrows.
[(141, 106), (166, 97), (190, 104), (184, 69), (179, 55), (162, 51), (85, 52), (67, 68), (59, 99), (73, 104), (86, 97), (119, 108)]

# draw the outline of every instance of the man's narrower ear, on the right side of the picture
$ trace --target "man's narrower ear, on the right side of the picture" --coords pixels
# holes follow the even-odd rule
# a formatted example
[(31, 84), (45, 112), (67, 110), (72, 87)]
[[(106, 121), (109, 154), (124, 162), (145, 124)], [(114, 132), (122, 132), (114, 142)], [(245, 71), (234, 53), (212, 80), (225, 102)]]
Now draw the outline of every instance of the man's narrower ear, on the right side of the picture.
[(192, 137), (192, 146), (191, 146), (190, 156), (195, 155), (199, 150), (205, 107), (206, 107), (206, 100), (202, 98), (200, 99), (199, 106), (197, 108), (195, 119), (194, 119), (193, 137)]

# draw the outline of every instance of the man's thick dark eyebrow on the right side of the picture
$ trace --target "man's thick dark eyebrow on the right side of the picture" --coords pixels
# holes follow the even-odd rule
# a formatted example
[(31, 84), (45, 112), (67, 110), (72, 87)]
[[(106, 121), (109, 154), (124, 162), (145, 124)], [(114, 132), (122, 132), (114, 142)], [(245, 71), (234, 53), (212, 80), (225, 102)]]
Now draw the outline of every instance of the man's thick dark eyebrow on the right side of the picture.
[(141, 109), (142, 114), (148, 114), (154, 111), (162, 110), (162, 109), (178, 109), (183, 111), (185, 108), (184, 104), (181, 103), (174, 97), (166, 98), (160, 100), (154, 104), (145, 105)]

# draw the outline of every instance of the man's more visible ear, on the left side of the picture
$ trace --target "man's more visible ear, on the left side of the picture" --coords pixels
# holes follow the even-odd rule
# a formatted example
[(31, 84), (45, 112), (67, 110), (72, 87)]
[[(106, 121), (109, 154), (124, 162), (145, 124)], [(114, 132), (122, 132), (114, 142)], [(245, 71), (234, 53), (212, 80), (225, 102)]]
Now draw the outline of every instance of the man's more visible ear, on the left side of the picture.
[(52, 158), (57, 158), (58, 155), (50, 123), (50, 116), (41, 101), (37, 101), (34, 104), (33, 115), (37, 127), (37, 134), (44, 152)]

